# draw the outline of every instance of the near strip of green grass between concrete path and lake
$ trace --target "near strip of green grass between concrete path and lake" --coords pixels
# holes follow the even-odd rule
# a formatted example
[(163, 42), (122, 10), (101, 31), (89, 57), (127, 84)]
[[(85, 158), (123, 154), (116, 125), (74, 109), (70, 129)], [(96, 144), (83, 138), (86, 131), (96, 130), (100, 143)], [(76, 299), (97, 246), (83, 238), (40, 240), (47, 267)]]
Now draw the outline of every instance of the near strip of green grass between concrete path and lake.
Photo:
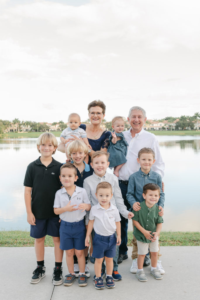
[[(0, 247), (33, 247), (34, 238), (28, 231), (0, 231)], [(128, 232), (128, 246), (131, 246), (132, 232)], [(45, 246), (53, 247), (51, 236), (46, 236)], [(200, 246), (200, 232), (167, 232), (160, 233), (161, 246)]]

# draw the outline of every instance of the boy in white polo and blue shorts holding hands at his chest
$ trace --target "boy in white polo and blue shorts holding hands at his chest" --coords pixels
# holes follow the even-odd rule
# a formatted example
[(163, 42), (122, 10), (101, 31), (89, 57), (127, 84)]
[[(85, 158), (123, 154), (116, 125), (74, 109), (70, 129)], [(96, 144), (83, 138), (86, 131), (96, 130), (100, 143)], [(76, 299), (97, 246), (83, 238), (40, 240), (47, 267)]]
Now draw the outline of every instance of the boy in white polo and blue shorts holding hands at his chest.
[(69, 274), (64, 285), (70, 286), (75, 280), (74, 251), (78, 258), (78, 285), (87, 285), (85, 275), (85, 223), (84, 215), (91, 205), (86, 191), (77, 187), (74, 182), (78, 179), (76, 167), (66, 163), (60, 168), (60, 181), (63, 188), (55, 194), (54, 212), (60, 215), (60, 249), (66, 250), (66, 262)]

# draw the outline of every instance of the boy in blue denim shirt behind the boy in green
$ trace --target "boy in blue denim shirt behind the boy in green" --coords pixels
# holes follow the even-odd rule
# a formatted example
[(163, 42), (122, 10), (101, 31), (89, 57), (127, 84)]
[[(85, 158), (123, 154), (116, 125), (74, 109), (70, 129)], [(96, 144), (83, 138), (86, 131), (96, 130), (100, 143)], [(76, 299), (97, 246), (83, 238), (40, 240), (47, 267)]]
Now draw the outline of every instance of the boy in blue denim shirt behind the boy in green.
[[(158, 201), (158, 208), (160, 209), (159, 215), (163, 216), (165, 194), (162, 191), (162, 179), (158, 173), (151, 170), (151, 167), (155, 162), (154, 151), (150, 148), (140, 149), (140, 151), (138, 152), (137, 162), (138, 164), (140, 164), (140, 170), (136, 173), (133, 173), (128, 179), (128, 192), (126, 194), (127, 200), (134, 211), (140, 210), (140, 202), (144, 201), (142, 196), (143, 186), (147, 183), (158, 184), (160, 187), (160, 199)], [(133, 231), (134, 231), (134, 225), (133, 225)], [(133, 235), (132, 244), (133, 244), (133, 250), (132, 250), (131, 257), (133, 259), (133, 262), (130, 271), (131, 273), (136, 273), (137, 272), (137, 241), (134, 235)], [(160, 270), (161, 274), (164, 274), (165, 271), (161, 265), (160, 256), (161, 254), (158, 251), (157, 268)], [(144, 265), (150, 265), (149, 256), (145, 257)]]

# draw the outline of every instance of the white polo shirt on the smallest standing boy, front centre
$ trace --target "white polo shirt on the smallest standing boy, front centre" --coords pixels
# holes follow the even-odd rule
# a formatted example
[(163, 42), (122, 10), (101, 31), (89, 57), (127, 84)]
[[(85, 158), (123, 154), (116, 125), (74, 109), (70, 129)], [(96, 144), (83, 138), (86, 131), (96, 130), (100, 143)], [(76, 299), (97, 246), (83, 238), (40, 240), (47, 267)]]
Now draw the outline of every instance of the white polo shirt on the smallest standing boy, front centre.
[(109, 236), (115, 233), (115, 222), (121, 220), (118, 209), (111, 202), (108, 209), (103, 208), (100, 203), (92, 206), (89, 219), (94, 220), (94, 231), (103, 236)]

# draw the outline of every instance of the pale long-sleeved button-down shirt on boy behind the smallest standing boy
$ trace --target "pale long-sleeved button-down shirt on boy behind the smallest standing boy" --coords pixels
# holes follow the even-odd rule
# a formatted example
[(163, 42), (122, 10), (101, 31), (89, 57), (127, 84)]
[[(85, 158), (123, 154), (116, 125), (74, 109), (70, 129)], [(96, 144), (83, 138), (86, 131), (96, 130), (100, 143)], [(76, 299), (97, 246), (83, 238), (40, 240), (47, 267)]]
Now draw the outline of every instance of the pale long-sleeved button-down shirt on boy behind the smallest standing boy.
[(127, 210), (127, 207), (124, 205), (124, 200), (122, 198), (122, 193), (119, 187), (118, 179), (115, 175), (107, 173), (107, 171), (105, 175), (102, 177), (99, 177), (95, 173), (93, 173), (93, 175), (84, 179), (83, 187), (84, 189), (86, 189), (88, 198), (91, 202), (90, 203), (91, 206), (97, 205), (99, 203), (95, 195), (96, 187), (99, 182), (103, 182), (103, 181), (109, 182), (112, 186), (113, 196), (110, 202), (119, 209), (119, 212), (123, 217), (128, 219), (129, 211)]

